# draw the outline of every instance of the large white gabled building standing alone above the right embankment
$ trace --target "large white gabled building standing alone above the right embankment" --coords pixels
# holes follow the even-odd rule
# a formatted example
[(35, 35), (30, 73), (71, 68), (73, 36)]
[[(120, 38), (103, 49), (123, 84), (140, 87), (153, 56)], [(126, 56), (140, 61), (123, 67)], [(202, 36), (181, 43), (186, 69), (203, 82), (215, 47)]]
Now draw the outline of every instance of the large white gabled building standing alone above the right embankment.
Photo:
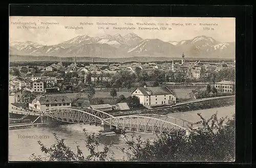
[(176, 96), (167, 87), (137, 88), (132, 96), (137, 96), (144, 106), (176, 104)]

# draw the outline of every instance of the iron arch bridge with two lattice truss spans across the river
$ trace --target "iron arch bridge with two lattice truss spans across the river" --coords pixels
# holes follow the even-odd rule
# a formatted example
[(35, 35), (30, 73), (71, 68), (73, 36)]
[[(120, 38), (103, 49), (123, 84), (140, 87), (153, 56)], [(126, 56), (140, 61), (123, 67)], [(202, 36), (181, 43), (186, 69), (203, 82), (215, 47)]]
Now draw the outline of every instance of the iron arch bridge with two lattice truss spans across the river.
[(110, 128), (115, 127), (116, 129), (145, 133), (174, 133), (185, 131), (196, 133), (188, 127), (193, 123), (163, 115), (145, 114), (114, 117), (96, 109), (80, 110), (73, 108), (49, 109), (42, 112), (42, 114), (62, 122), (109, 125)]

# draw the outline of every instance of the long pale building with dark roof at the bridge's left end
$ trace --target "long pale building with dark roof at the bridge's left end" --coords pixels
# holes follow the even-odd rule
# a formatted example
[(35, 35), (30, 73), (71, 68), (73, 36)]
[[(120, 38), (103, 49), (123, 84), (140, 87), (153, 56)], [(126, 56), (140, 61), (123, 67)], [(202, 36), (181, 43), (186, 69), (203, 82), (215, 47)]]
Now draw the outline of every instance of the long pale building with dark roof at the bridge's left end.
[(33, 111), (46, 111), (48, 109), (69, 108), (71, 100), (68, 96), (37, 96), (32, 103), (29, 103), (29, 109)]

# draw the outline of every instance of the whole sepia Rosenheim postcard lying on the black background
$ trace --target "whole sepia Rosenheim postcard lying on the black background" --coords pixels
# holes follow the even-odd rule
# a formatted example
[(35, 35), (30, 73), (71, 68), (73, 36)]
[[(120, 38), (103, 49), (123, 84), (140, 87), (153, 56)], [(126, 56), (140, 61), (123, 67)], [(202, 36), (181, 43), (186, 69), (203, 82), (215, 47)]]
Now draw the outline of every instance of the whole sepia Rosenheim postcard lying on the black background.
[(9, 161), (234, 162), (236, 19), (9, 17)]

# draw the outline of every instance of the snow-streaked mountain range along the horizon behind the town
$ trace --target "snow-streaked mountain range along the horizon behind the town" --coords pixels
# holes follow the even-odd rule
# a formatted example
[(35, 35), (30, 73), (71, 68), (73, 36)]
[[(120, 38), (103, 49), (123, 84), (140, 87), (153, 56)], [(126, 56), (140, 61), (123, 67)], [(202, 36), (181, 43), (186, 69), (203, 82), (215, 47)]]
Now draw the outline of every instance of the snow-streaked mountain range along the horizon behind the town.
[(197, 36), (190, 40), (168, 41), (142, 39), (134, 33), (121, 36), (104, 35), (90, 37), (77, 36), (56, 45), (41, 45), (35, 42), (11, 42), (10, 55), (31, 55), (51, 57), (181, 57), (187, 58), (234, 58), (234, 42), (221, 43), (214, 38)]

